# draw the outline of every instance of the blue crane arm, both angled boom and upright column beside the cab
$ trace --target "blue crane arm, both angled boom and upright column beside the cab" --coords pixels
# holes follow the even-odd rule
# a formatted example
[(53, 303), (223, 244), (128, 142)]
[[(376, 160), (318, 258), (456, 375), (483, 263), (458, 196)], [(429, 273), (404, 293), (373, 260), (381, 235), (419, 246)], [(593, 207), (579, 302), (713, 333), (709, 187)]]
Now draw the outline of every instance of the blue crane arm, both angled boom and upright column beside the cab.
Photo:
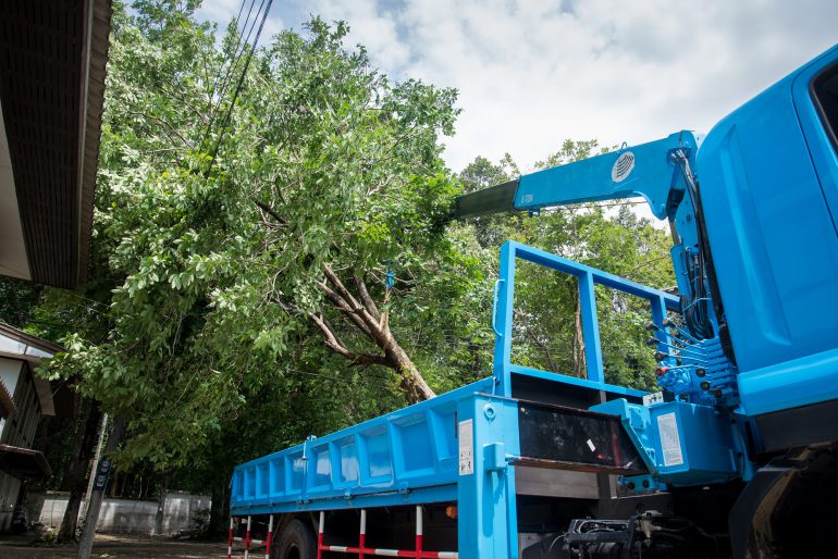
[(700, 339), (717, 332), (711, 300), (710, 252), (695, 174), (699, 140), (688, 131), (537, 171), (515, 181), (459, 197), (452, 218), (465, 219), (509, 211), (539, 211), (571, 203), (643, 197), (652, 213), (669, 220), (673, 266), (688, 314), (689, 330)]

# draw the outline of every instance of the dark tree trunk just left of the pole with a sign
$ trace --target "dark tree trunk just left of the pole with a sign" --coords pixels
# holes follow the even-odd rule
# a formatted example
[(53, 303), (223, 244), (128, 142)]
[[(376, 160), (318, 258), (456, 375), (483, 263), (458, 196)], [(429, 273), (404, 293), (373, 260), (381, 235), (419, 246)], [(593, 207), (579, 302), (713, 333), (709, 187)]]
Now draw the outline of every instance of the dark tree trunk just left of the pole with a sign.
[(66, 484), (70, 489), (70, 498), (67, 499), (64, 518), (61, 521), (61, 529), (56, 536), (56, 542), (59, 544), (75, 541), (78, 510), (87, 488), (87, 467), (96, 445), (96, 432), (98, 431), (100, 418), (101, 412), (96, 400), (86, 400), (73, 443), (73, 456), (67, 467)]

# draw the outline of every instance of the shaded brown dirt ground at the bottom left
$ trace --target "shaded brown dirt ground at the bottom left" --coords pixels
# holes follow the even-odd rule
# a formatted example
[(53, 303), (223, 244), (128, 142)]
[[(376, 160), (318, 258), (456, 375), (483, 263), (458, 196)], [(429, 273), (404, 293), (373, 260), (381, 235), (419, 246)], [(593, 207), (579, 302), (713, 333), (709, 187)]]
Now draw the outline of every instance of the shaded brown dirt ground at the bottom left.
[[(75, 559), (76, 545), (50, 546), (35, 534), (0, 534), (0, 557), (3, 559)], [(160, 559), (226, 558), (226, 542), (190, 542), (169, 537), (126, 534), (96, 534), (91, 558), (144, 557)], [(244, 552), (239, 550), (238, 557)], [(235, 551), (234, 551), (235, 557)]]

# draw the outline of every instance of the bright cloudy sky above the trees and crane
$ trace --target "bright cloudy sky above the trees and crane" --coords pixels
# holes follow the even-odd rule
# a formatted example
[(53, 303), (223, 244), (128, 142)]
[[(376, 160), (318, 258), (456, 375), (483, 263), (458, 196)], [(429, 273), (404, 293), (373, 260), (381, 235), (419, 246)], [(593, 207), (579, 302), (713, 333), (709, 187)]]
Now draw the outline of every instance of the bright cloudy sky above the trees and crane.
[[(223, 28), (239, 5), (198, 16)], [(706, 133), (838, 42), (836, 0), (274, 0), (263, 36), (313, 14), (346, 21), (392, 78), (459, 90), (454, 171), (509, 152), (526, 172), (567, 138)]]

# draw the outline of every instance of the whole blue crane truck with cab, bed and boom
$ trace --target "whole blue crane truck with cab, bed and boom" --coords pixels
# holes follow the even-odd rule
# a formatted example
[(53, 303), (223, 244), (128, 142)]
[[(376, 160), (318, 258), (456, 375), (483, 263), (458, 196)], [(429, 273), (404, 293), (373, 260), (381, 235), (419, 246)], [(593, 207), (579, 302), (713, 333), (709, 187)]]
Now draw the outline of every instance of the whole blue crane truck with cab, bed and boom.
[[(668, 221), (677, 295), (506, 243), (493, 374), (236, 467), (231, 552), (838, 557), (838, 47), (703, 138), (523, 175), (452, 216), (626, 197)], [(577, 278), (587, 377), (513, 361), (522, 261)], [(597, 285), (648, 301), (658, 393), (606, 383)]]

